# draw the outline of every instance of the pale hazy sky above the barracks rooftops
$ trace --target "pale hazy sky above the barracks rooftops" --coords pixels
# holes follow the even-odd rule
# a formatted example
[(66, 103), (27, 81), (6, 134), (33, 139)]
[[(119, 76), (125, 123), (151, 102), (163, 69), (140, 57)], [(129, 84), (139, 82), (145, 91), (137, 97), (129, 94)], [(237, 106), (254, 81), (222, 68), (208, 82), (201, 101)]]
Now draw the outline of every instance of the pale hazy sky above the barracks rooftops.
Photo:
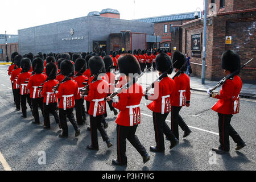
[[(116, 9), (120, 19), (138, 19), (203, 10), (204, 0), (1, 0), (0, 34)], [(199, 10), (198, 9), (198, 10)]]

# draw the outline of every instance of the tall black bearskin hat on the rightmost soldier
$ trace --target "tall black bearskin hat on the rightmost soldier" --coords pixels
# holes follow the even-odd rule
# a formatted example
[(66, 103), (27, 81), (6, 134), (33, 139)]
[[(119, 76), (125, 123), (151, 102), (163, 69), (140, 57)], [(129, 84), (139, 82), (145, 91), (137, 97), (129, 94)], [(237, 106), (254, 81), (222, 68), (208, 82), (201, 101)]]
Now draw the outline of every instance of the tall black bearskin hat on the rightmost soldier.
[(221, 68), (230, 72), (234, 72), (236, 70), (239, 70), (240, 72), (240, 56), (238, 56), (237, 53), (232, 50), (225, 51), (221, 56)]

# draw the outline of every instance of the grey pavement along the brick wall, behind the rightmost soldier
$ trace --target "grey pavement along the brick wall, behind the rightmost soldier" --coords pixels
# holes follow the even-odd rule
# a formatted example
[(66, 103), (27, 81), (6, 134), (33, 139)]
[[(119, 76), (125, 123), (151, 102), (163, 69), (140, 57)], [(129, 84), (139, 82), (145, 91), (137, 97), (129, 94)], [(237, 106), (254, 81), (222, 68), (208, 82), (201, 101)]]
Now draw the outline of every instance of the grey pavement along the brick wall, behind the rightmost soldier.
[[(205, 84), (201, 84), (201, 78), (200, 77), (195, 77), (195, 76), (190, 76), (190, 87), (191, 90), (197, 90), (197, 91), (202, 91), (206, 92), (207, 89), (213, 88), (218, 81), (209, 81), (205, 80)], [(220, 91), (221, 86), (216, 89), (216, 91)], [(244, 98), (256, 98), (256, 84), (243, 84), (240, 97)]]

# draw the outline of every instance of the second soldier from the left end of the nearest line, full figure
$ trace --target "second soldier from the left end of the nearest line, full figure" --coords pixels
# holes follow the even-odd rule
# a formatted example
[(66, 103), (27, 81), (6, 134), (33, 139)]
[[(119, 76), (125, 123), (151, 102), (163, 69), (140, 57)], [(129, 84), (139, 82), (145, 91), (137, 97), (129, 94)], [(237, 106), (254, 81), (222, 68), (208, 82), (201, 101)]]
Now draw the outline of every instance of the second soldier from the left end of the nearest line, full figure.
[(27, 80), (31, 77), (31, 73), (28, 72), (31, 69), (31, 60), (28, 58), (23, 58), (21, 61), (22, 72), (19, 74), (16, 83), (20, 85), (20, 102), (22, 107), (22, 117), (27, 117), (27, 104), (30, 106), (31, 111), (33, 112), (31, 100), (30, 100), (30, 92), (27, 89)]

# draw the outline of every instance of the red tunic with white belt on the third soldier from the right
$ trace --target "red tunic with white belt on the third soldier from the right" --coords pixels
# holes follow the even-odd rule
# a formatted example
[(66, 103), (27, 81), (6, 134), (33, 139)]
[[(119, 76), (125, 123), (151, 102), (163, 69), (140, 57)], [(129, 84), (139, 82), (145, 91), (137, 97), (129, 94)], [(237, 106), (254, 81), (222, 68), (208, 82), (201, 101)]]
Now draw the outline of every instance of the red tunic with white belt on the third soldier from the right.
[(154, 101), (147, 105), (148, 109), (155, 113), (169, 113), (174, 90), (175, 83), (170, 77), (164, 77), (160, 82), (155, 82), (154, 95), (148, 96), (148, 100)]

